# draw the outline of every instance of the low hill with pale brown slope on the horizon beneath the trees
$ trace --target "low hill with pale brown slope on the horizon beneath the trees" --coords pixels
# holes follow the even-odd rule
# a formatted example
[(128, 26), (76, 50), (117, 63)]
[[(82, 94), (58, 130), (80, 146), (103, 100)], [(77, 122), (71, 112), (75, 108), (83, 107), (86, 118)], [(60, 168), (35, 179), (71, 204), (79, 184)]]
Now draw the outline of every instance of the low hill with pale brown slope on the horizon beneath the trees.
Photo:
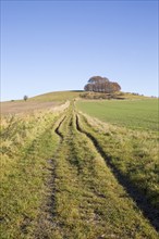
[(113, 95), (101, 92), (86, 92), (83, 90), (68, 90), (68, 91), (54, 91), (36, 97), (28, 98), (27, 101), (15, 100), (1, 103), (1, 114), (14, 114), (23, 113), (34, 110), (50, 109), (64, 103), (65, 101), (72, 101), (73, 99), (81, 98), (83, 100), (140, 100), (148, 99), (144, 96), (136, 96), (133, 93), (117, 92)]

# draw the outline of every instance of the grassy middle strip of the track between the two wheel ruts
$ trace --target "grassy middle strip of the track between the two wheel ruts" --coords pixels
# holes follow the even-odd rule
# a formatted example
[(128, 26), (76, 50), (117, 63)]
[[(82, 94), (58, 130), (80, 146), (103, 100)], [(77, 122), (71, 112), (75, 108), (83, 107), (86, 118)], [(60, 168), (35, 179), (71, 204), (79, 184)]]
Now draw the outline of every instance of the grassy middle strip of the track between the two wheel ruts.
[(157, 238), (107, 167), (96, 139), (82, 131), (74, 110), (54, 133), (60, 144), (53, 158), (54, 226), (49, 238)]

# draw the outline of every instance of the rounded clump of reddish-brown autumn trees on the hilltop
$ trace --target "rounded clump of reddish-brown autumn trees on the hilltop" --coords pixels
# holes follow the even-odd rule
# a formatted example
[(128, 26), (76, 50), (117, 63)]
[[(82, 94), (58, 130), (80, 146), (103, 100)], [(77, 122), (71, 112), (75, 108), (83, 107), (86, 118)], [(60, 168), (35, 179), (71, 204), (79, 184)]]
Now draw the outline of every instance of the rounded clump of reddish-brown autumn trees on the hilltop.
[(85, 91), (112, 93), (121, 90), (118, 83), (110, 81), (106, 77), (93, 76), (89, 78), (88, 84), (84, 87)]

